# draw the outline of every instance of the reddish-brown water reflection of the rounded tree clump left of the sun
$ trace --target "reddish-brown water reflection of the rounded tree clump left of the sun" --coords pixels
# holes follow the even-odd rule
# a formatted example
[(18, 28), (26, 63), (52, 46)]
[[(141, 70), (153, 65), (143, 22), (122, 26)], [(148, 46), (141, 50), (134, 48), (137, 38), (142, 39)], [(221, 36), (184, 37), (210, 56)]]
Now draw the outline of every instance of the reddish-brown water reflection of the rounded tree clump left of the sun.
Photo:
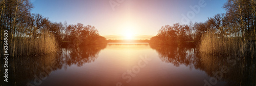
[(106, 44), (83, 46), (79, 48), (62, 48), (59, 63), (63, 66), (77, 65), (80, 67), (83, 63), (95, 61), (100, 50), (105, 47)]

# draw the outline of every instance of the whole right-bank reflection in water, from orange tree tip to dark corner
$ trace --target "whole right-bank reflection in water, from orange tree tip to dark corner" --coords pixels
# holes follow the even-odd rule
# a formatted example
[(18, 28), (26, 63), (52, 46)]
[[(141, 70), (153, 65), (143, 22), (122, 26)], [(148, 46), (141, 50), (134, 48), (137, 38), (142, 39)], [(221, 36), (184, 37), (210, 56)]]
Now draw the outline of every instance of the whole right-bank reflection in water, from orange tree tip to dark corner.
[[(155, 49), (160, 59), (173, 63), (175, 66), (185, 65), (194, 67), (216, 77), (214, 73), (220, 73), (223, 66), (228, 68), (218, 82), (225, 81), (227, 85), (256, 85), (255, 59), (243, 58), (236, 60), (234, 57), (212, 56), (198, 53), (194, 48), (179, 48), (173, 46), (150, 45)], [(228, 59), (227, 59), (228, 58)], [(221, 76), (221, 74), (218, 74)], [(208, 82), (209, 80), (206, 79)]]

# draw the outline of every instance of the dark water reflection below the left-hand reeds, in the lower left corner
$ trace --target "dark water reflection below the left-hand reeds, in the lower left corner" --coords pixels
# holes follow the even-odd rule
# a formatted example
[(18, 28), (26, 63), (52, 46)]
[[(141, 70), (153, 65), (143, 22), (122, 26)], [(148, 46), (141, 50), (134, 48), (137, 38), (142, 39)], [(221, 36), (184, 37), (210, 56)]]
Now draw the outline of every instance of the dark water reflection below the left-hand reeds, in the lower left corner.
[(58, 69), (54, 66), (56, 59), (56, 54), (15, 57), (8, 67), (8, 82), (1, 85), (26, 85), (28, 82), (33, 83), (35, 78), (47, 77), (50, 72)]

